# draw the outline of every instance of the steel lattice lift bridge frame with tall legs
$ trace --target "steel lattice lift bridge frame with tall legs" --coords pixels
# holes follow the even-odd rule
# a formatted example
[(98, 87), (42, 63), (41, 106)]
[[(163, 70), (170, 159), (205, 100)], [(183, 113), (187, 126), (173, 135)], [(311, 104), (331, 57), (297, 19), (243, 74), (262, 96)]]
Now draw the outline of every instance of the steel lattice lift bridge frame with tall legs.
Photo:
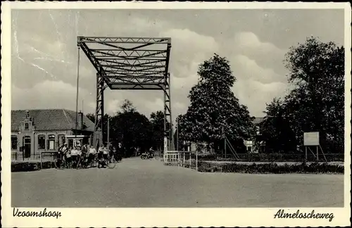
[(104, 134), (102, 140), (97, 137), (99, 129), (106, 129), (103, 120), (105, 89), (162, 90), (164, 93), (164, 142), (167, 138), (168, 149), (172, 149), (170, 73), (168, 72), (171, 39), (77, 37), (77, 46), (78, 64), (80, 49), (82, 49), (96, 69), (95, 146), (106, 142)]

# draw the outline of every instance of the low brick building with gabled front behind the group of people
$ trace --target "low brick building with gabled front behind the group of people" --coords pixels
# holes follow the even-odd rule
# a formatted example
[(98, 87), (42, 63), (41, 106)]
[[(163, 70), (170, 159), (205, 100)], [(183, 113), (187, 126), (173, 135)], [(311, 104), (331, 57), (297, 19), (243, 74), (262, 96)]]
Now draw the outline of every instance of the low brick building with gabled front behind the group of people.
[[(36, 160), (41, 152), (54, 152), (64, 143), (73, 146), (73, 136), (81, 144), (91, 144), (94, 122), (82, 112), (65, 109), (11, 110), (11, 158)], [(96, 134), (101, 139), (101, 132)]]

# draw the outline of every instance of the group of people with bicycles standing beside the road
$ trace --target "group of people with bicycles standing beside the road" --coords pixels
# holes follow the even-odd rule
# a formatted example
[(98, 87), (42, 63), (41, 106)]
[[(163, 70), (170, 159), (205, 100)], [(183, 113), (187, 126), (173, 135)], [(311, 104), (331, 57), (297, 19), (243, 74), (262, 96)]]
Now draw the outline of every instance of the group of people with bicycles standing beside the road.
[(107, 165), (108, 158), (110, 156), (115, 156), (116, 149), (115, 147), (108, 148), (108, 146), (101, 145), (96, 151), (94, 146), (89, 146), (88, 144), (84, 144), (81, 146), (70, 146), (65, 143), (58, 149), (58, 163), (57, 165), (61, 165), (60, 163), (65, 162), (65, 165), (70, 167), (77, 167), (78, 165), (82, 165), (87, 167), (88, 165), (92, 165), (96, 156), (98, 158), (98, 167), (104, 167)]

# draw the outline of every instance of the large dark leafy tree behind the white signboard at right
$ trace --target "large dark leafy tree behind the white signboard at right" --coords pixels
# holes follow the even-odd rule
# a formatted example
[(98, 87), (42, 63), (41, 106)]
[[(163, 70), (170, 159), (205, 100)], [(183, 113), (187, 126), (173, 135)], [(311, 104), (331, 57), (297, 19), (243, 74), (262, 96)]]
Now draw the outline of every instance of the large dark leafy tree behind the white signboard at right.
[[(331, 153), (344, 152), (344, 47), (309, 37), (292, 46), (285, 56), (288, 81), (293, 89), (284, 97), (280, 110), (303, 145), (303, 132), (320, 132), (320, 144)], [(267, 110), (272, 109), (268, 106)], [(268, 118), (268, 113), (267, 113)], [(282, 125), (266, 129), (280, 132)], [(279, 141), (279, 135), (276, 135)]]

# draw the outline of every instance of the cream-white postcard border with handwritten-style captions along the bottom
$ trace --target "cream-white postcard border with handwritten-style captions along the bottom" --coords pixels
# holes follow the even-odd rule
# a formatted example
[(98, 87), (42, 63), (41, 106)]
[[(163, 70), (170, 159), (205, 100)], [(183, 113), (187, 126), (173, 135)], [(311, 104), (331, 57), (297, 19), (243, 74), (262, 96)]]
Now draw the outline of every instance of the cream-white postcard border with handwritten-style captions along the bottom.
[[(59, 210), (62, 217), (13, 217), (11, 208), (11, 9), (20, 8), (343, 8), (345, 10), (345, 169), (344, 208), (51, 208)], [(351, 196), (351, 5), (348, 3), (201, 3), (201, 2), (3, 2), (1, 4), (1, 223), (3, 227), (299, 227), (347, 226), (350, 224)], [(21, 208), (38, 211), (39, 208)], [(309, 213), (334, 213), (334, 220), (274, 219), (279, 209)], [(99, 214), (101, 216), (99, 216)], [(176, 216), (177, 215), (177, 216)], [(113, 217), (114, 220), (106, 220)], [(118, 217), (118, 219), (116, 219)], [(255, 217), (255, 219), (254, 219)], [(94, 219), (89, 219), (94, 218)], [(136, 219), (138, 218), (138, 219)]]

